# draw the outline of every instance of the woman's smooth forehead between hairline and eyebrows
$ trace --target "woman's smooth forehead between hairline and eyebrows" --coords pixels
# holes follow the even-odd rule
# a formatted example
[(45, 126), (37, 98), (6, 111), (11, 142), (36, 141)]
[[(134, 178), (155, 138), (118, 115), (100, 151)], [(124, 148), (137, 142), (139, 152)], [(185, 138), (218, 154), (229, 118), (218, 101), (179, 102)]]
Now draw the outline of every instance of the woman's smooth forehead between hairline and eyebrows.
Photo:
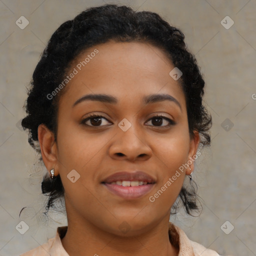
[(159, 92), (184, 99), (181, 85), (169, 75), (173, 68), (165, 52), (149, 43), (108, 41), (86, 49), (72, 61), (69, 72), (76, 74), (67, 84), (67, 94), (73, 101), (86, 93), (137, 100)]

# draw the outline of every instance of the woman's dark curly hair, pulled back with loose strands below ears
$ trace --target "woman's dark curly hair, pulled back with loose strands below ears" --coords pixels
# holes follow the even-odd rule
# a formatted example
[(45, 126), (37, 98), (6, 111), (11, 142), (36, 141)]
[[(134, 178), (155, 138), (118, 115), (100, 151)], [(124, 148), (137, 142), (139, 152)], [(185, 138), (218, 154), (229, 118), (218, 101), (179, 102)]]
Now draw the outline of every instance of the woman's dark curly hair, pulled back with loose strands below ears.
[[(23, 128), (29, 131), (30, 145), (40, 153), (37, 127), (41, 123), (54, 133), (56, 139), (58, 100), (65, 88), (52, 99), (47, 95), (63, 81), (72, 61), (79, 54), (109, 40), (145, 42), (164, 51), (173, 65), (182, 71), (178, 81), (185, 95), (189, 134), (193, 137), (193, 132), (198, 131), (201, 147), (209, 145), (211, 116), (202, 105), (204, 80), (194, 55), (187, 49), (183, 33), (157, 13), (134, 11), (116, 4), (87, 8), (74, 19), (62, 23), (50, 37), (33, 72), (26, 99), (27, 115), (21, 122)], [(198, 209), (196, 188), (192, 182), (190, 187), (183, 185), (178, 196), (190, 215), (191, 210)], [(51, 179), (46, 173), (41, 190), (48, 196), (46, 212), (50, 207), (54, 208), (55, 201), (63, 199), (64, 188), (59, 175)], [(176, 209), (176, 206), (173, 207)]]

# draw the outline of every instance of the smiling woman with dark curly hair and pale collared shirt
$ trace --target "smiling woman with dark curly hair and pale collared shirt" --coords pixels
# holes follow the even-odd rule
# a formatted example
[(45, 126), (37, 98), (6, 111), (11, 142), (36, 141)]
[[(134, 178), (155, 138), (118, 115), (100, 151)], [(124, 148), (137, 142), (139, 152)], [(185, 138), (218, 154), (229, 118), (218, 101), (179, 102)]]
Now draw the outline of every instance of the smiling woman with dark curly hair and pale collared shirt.
[(198, 209), (194, 160), (210, 144), (181, 31), (153, 12), (89, 8), (53, 33), (31, 84), (22, 126), (48, 170), (46, 210), (64, 198), (68, 226), (22, 256), (218, 255), (169, 222), (178, 200)]

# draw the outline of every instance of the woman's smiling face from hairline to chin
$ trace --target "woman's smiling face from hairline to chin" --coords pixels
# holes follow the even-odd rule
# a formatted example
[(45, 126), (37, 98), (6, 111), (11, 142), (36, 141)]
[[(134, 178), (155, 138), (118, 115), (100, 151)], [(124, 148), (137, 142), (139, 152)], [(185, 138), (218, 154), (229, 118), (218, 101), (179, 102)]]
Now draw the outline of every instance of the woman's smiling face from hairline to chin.
[[(168, 221), (191, 172), (179, 167), (198, 144), (198, 136), (189, 138), (185, 97), (169, 75), (173, 68), (163, 51), (141, 42), (99, 44), (73, 62), (59, 101), (54, 154), (43, 156), (60, 174), (68, 221), (118, 235)], [(159, 96), (150, 100), (152, 94)], [(89, 119), (92, 114), (102, 117)]]

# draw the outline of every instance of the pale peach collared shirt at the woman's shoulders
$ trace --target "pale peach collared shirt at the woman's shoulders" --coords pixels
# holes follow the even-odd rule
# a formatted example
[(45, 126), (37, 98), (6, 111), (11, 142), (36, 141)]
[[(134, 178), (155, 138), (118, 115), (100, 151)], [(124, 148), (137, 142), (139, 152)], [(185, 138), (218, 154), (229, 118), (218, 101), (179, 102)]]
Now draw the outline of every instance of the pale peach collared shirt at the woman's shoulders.
[[(57, 227), (55, 237), (19, 256), (69, 256), (60, 240), (65, 236), (66, 231), (67, 226)], [(184, 231), (171, 222), (169, 222), (168, 233), (170, 243), (179, 248), (178, 256), (220, 256), (216, 251), (189, 240)]]

